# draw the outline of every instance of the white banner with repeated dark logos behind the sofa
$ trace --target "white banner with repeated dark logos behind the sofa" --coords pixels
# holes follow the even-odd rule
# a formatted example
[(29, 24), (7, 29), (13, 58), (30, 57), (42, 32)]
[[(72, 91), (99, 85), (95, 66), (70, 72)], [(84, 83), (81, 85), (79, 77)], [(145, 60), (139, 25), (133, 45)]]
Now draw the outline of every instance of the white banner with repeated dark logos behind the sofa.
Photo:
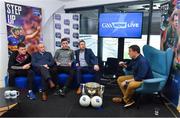
[(61, 39), (68, 38), (71, 49), (76, 50), (79, 42), (79, 14), (55, 13), (54, 37), (55, 50), (61, 47)]

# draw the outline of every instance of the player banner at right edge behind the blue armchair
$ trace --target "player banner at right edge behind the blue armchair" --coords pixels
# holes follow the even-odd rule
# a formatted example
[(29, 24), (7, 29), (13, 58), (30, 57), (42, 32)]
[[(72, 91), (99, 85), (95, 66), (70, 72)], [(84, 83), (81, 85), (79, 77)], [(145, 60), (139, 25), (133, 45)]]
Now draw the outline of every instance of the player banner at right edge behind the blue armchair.
[(180, 0), (171, 0), (161, 5), (161, 50), (172, 48), (173, 67), (165, 89), (166, 97), (180, 107)]

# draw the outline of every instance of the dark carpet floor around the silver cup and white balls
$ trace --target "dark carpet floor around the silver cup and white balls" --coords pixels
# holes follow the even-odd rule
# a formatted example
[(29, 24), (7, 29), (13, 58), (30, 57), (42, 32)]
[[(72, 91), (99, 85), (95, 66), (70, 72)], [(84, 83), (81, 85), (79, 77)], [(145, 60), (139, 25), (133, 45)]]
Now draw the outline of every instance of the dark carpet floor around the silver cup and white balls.
[[(117, 87), (106, 87), (104, 103), (101, 108), (81, 107), (79, 97), (75, 91), (70, 91), (66, 97), (49, 94), (47, 102), (31, 101), (21, 98), (20, 104), (6, 112), (3, 117), (175, 117), (157, 97), (144, 97), (140, 109), (136, 104), (130, 108), (123, 108), (121, 104), (112, 103), (113, 96), (119, 95)], [(155, 116), (154, 109), (159, 109), (159, 115)]]

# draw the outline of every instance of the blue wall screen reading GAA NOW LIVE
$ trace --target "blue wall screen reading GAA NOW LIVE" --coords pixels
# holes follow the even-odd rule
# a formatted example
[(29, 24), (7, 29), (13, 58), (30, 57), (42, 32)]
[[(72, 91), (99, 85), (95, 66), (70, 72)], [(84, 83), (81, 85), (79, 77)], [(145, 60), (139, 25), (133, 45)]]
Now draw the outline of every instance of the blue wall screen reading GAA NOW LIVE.
[(103, 13), (99, 17), (100, 37), (140, 38), (143, 13)]

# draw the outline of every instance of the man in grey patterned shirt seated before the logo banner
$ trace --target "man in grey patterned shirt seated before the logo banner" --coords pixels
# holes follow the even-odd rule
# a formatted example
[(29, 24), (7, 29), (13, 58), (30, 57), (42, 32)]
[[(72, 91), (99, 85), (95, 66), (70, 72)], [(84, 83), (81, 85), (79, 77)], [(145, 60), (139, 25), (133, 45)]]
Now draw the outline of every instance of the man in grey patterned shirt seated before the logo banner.
[(73, 50), (71, 50), (68, 46), (67, 38), (63, 38), (61, 40), (61, 47), (62, 47), (61, 49), (56, 50), (55, 55), (54, 55), (54, 60), (56, 62), (56, 66), (54, 66), (52, 69), (52, 75), (53, 75), (53, 78), (57, 81), (58, 73), (69, 73), (70, 74), (64, 87), (62, 89), (57, 90), (55, 93), (56, 95), (65, 96), (65, 94), (68, 91), (68, 88), (70, 87), (70, 85), (73, 81), (73, 69), (71, 68), (71, 64), (74, 59), (74, 53), (73, 53)]

